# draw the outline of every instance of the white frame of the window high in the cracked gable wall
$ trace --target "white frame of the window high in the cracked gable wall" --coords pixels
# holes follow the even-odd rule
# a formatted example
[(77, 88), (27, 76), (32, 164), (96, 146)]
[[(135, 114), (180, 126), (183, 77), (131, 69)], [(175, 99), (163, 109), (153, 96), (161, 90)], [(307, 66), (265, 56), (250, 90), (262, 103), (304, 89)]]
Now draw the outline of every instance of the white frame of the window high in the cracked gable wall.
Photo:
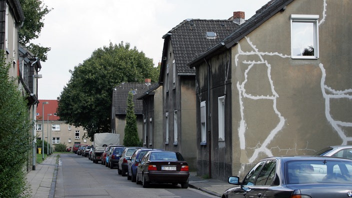
[[(318, 31), (318, 19), (319, 15), (313, 14), (291, 14), (291, 58), (293, 59), (317, 59), (319, 58), (319, 31)], [(297, 55), (294, 54), (294, 44), (295, 44), (295, 36), (293, 30), (293, 23), (301, 22), (301, 23), (312, 23), (313, 24), (313, 47), (314, 47), (314, 55)], [(300, 37), (301, 39), (301, 37)], [(300, 49), (301, 50), (301, 49)]]

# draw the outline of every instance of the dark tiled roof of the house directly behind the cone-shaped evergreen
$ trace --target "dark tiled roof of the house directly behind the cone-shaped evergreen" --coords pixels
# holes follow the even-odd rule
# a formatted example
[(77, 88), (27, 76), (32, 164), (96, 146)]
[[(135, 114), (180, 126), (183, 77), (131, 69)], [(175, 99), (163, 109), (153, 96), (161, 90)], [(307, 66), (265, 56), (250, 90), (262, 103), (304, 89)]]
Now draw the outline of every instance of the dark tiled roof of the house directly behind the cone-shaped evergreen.
[(144, 82), (124, 82), (119, 84), (113, 89), (112, 102), (115, 107), (115, 114), (126, 114), (126, 102), (128, 91), (134, 90), (133, 102), (134, 102), (134, 113), (142, 114), (143, 112), (143, 101), (137, 98), (147, 91), (153, 84), (147, 86)]

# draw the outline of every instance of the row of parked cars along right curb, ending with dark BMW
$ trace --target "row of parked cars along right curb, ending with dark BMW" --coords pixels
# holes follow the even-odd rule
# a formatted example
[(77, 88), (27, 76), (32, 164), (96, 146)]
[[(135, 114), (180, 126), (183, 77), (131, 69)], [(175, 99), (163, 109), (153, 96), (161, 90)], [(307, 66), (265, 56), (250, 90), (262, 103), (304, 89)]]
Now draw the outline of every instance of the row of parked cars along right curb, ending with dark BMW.
[(188, 164), (179, 152), (123, 145), (89, 147), (85, 150), (88, 150), (87, 156), (93, 163), (101, 161), (106, 167), (116, 167), (117, 175), (126, 176), (128, 180), (142, 184), (143, 187), (153, 183), (188, 187)]

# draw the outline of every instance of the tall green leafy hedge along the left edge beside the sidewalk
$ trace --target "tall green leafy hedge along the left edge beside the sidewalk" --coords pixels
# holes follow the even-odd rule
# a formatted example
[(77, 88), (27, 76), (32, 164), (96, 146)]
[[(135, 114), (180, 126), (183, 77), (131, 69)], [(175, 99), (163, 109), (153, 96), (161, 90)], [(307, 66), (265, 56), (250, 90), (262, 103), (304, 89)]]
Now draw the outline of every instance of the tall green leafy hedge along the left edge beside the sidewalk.
[[(0, 51), (4, 54), (3, 51)], [(26, 100), (0, 58), (0, 197), (29, 196), (26, 163), (31, 150)]]

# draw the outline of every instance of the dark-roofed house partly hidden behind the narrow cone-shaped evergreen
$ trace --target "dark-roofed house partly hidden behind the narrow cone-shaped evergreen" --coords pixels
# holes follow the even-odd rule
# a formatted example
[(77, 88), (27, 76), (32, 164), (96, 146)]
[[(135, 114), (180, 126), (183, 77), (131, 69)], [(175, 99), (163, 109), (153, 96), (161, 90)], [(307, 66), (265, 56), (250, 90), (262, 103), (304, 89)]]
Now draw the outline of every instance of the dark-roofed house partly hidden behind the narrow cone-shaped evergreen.
[(153, 84), (150, 83), (150, 80), (146, 80), (146, 82), (143, 83), (122, 82), (112, 89), (111, 132), (120, 135), (120, 144), (123, 144), (124, 138), (128, 92), (131, 91), (133, 94), (134, 113), (136, 115), (138, 136), (139, 139), (142, 139), (143, 104), (142, 100), (138, 100), (137, 98), (151, 86), (153, 86)]

